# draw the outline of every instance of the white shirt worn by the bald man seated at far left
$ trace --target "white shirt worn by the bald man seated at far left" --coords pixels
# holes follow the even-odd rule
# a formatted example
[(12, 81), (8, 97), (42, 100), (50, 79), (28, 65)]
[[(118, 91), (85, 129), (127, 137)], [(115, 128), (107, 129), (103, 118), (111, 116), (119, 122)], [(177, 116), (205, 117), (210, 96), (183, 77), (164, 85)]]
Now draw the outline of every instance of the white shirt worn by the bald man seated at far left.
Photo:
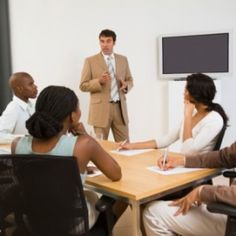
[(28, 134), (26, 120), (34, 113), (32, 102), (24, 102), (16, 96), (0, 116), (0, 137), (9, 138), (10, 134)]

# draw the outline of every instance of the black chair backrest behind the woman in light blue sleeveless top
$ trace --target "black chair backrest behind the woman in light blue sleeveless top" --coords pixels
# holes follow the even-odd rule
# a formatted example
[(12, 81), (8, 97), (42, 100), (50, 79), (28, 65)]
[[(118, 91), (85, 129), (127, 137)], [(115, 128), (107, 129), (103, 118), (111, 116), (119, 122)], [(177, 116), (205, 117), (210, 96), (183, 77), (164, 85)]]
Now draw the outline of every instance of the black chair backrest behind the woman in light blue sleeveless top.
[(88, 213), (73, 157), (12, 155), (33, 235), (88, 235)]

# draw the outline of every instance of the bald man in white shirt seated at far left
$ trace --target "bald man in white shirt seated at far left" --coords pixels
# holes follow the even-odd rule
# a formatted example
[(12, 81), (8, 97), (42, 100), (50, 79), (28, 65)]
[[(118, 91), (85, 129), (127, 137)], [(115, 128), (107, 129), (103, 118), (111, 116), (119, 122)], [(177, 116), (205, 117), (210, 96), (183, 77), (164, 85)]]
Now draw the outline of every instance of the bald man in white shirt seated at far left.
[(0, 138), (11, 139), (15, 135), (28, 134), (26, 120), (34, 112), (30, 98), (36, 98), (38, 90), (31, 75), (14, 73), (9, 79), (13, 99), (0, 116)]

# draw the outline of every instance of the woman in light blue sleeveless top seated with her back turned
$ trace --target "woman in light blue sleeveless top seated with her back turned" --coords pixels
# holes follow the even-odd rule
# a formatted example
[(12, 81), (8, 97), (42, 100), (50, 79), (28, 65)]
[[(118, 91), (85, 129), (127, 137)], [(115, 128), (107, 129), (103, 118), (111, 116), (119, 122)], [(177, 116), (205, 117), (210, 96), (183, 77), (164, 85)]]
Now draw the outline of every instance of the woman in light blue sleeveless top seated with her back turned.
[[(30, 135), (15, 139), (12, 153), (74, 156), (82, 181), (89, 161), (109, 179), (119, 180), (120, 166), (96, 140), (86, 134), (79, 123), (80, 116), (79, 101), (71, 89), (62, 86), (46, 87), (39, 94), (35, 113), (26, 121)], [(77, 135), (69, 135), (71, 132)], [(86, 196), (91, 228), (98, 217), (94, 206), (98, 197), (91, 191)]]

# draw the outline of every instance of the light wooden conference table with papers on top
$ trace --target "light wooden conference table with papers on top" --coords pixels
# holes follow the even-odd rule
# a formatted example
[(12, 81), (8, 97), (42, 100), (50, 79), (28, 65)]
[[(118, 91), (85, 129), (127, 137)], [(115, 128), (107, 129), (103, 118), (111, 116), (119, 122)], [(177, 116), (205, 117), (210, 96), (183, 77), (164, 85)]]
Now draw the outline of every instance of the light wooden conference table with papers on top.
[(147, 169), (156, 165), (160, 150), (151, 150), (139, 155), (124, 156), (111, 153), (117, 144), (100, 141), (122, 168), (122, 179), (112, 182), (104, 175), (88, 177), (86, 187), (101, 194), (121, 199), (131, 205), (132, 236), (142, 235), (140, 231), (140, 205), (176, 192), (192, 184), (199, 184), (221, 173), (218, 169), (202, 169), (184, 174), (161, 175)]

